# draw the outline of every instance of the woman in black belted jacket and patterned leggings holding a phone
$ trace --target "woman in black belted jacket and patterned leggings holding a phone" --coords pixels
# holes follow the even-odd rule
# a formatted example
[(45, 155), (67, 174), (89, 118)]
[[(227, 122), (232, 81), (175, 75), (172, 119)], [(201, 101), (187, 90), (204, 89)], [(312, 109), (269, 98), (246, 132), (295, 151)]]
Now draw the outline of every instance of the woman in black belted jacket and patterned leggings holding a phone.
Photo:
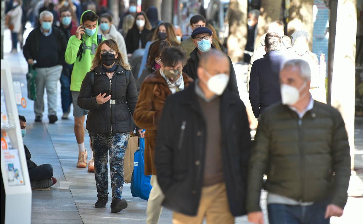
[[(98, 200), (95, 208), (105, 208), (108, 201), (107, 155), (110, 156), (112, 203), (111, 212), (127, 208), (122, 199), (123, 159), (129, 140), (138, 94), (129, 64), (115, 40), (98, 45), (91, 71), (79, 91), (78, 106), (90, 110), (86, 129), (94, 155)], [(105, 93), (103, 93), (104, 90)]]

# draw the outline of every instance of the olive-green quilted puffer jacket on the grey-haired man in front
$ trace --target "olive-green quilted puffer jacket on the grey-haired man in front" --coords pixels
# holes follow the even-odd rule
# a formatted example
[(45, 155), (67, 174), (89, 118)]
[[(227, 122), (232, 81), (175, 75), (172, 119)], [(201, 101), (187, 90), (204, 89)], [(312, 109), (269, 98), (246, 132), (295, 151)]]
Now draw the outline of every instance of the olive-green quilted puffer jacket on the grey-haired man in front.
[(258, 122), (248, 168), (247, 211), (260, 211), (265, 190), (297, 201), (321, 201), (344, 208), (350, 178), (347, 132), (340, 113), (314, 101), (299, 118), (288, 106), (266, 108)]

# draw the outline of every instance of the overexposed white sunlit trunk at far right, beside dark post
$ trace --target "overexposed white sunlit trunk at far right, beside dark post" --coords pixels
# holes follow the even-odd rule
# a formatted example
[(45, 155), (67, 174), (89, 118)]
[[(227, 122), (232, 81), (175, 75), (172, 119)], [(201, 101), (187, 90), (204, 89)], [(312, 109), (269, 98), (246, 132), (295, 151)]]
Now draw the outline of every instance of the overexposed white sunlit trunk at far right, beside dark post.
[(354, 168), (355, 50), (357, 0), (338, 0), (331, 105), (342, 114)]

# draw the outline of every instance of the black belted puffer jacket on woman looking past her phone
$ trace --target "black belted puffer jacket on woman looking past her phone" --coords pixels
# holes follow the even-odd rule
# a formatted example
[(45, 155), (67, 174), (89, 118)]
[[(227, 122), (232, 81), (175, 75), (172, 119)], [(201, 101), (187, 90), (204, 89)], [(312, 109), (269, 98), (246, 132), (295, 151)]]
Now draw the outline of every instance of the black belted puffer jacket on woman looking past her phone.
[[(91, 73), (94, 72), (92, 82)], [(78, 95), (78, 106), (90, 110), (87, 116), (86, 129), (98, 134), (125, 133), (132, 130), (132, 117), (134, 114), (138, 94), (134, 76), (121, 65), (115, 70), (110, 80), (105, 71), (98, 66), (94, 71), (88, 72), (84, 78)], [(96, 97), (102, 89), (110, 89), (111, 100), (97, 105)], [(131, 112), (131, 114), (130, 114)]]

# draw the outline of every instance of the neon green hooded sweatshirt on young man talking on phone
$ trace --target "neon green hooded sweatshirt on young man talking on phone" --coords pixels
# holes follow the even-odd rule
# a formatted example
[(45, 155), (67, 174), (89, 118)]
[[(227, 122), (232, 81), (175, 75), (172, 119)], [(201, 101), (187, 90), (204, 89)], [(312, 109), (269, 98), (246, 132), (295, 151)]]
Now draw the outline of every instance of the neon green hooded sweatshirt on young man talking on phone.
[[(81, 20), (79, 21), (80, 24), (82, 24), (82, 17), (86, 12), (90, 12), (90, 10), (84, 11), (82, 13)], [(70, 83), (70, 90), (72, 91), (79, 92), (79, 90), (81, 90), (83, 78), (85, 78), (86, 73), (89, 72), (91, 69), (92, 60), (97, 49), (97, 30), (98, 21), (96, 32), (93, 34), (93, 36), (83, 34), (81, 40), (79, 40), (76, 35), (73, 35), (69, 38), (64, 58), (68, 64), (74, 64)], [(102, 38), (102, 40), (105, 40), (105, 38)], [(83, 53), (81, 61), (79, 61), (79, 56), (77, 57), (77, 53), (79, 50), (79, 46), (82, 43)]]

